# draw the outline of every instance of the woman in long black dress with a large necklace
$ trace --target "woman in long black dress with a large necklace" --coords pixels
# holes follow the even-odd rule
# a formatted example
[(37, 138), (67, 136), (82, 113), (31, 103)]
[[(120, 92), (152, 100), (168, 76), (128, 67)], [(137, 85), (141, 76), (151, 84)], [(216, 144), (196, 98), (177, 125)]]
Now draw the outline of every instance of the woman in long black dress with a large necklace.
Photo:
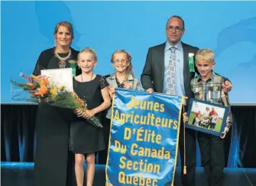
[[(56, 46), (44, 50), (37, 60), (34, 75), (41, 77), (41, 69), (70, 68), (70, 61), (76, 60), (78, 51), (70, 44), (73, 40), (73, 27), (61, 21), (54, 30)], [(75, 66), (76, 69), (76, 66)], [(80, 74), (80, 69), (74, 69)], [(75, 74), (74, 74), (75, 75)], [(73, 111), (48, 104), (40, 104), (37, 110), (37, 146), (34, 164), (34, 183), (36, 186), (65, 186), (72, 181), (72, 168), (68, 168), (70, 123)], [(70, 153), (72, 155), (72, 153)], [(72, 166), (72, 164), (70, 164)], [(70, 173), (67, 173), (67, 170)], [(70, 178), (67, 178), (67, 177)]]

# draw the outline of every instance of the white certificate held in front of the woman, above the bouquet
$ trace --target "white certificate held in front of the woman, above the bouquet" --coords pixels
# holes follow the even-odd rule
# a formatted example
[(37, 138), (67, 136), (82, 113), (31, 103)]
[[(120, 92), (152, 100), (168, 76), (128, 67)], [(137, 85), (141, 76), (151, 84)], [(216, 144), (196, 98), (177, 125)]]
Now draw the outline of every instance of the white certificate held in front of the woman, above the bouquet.
[(65, 86), (68, 91), (73, 91), (73, 74), (71, 68), (66, 69), (44, 69), (41, 75), (49, 78), (49, 82), (57, 86)]

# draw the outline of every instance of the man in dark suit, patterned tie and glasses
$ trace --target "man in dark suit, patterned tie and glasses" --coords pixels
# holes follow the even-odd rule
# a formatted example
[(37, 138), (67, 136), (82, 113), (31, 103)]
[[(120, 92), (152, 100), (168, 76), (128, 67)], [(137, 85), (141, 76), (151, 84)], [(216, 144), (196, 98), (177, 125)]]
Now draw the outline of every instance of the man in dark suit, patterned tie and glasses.
[[(184, 95), (193, 98), (190, 81), (195, 76), (194, 69), (189, 66), (189, 53), (196, 56), (198, 47), (181, 42), (185, 33), (185, 24), (180, 16), (174, 15), (168, 21), (165, 28), (167, 42), (149, 48), (147, 59), (141, 74), (143, 88), (149, 92), (154, 91), (168, 95)], [(194, 60), (195, 61), (195, 60)], [(232, 88), (230, 82), (222, 85), (224, 91)], [(195, 185), (196, 173), (196, 132), (185, 130), (186, 142), (186, 175), (181, 175), (183, 186)], [(182, 170), (184, 165), (184, 136), (183, 125), (180, 126), (180, 158)]]

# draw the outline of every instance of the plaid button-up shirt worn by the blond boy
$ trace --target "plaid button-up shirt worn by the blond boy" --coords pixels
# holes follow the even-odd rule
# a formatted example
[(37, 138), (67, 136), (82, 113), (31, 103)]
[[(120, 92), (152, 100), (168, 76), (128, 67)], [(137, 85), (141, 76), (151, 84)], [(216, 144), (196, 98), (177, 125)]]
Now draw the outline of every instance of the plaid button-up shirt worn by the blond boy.
[[(196, 76), (191, 80), (191, 89), (194, 92), (195, 98), (203, 101), (209, 101), (214, 104), (222, 104), (225, 106), (230, 106), (228, 100), (228, 93), (225, 93), (222, 90), (222, 83), (225, 82), (225, 79), (215, 74), (212, 71), (212, 77), (209, 78), (206, 82), (203, 82), (203, 79), (200, 75)], [(229, 128), (232, 125), (232, 112), (229, 108), (228, 119), (226, 121), (226, 128)]]

